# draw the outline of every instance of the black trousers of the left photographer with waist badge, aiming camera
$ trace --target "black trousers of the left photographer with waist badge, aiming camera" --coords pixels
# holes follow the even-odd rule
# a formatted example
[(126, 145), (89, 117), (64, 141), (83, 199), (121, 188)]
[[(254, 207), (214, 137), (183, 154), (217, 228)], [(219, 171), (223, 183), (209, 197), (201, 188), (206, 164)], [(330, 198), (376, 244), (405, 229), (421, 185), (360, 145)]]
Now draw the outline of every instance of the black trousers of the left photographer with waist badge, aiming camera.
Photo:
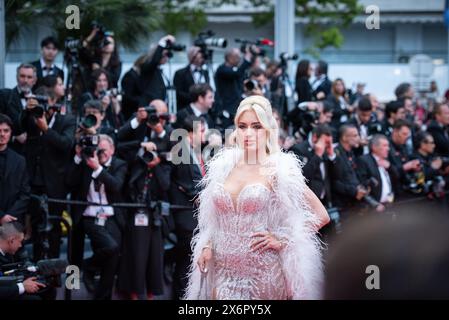
[(120, 254), (121, 232), (114, 217), (107, 219), (104, 226), (95, 224), (95, 218), (83, 217), (84, 231), (90, 239), (94, 254), (84, 262), (85, 272), (100, 272), (100, 283), (95, 299), (108, 300), (112, 297), (114, 277)]

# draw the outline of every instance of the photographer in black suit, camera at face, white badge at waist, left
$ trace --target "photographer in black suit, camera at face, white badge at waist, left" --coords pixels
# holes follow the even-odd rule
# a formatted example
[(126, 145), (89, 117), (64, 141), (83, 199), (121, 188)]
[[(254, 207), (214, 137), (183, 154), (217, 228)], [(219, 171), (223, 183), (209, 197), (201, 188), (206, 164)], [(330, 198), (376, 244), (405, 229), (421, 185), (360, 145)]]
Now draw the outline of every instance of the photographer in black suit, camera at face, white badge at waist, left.
[[(75, 151), (65, 175), (72, 199), (101, 204), (72, 209), (73, 224), (82, 222), (93, 248), (93, 256), (84, 261), (83, 280), (86, 288), (95, 292), (95, 299), (111, 299), (125, 222), (121, 209), (107, 205), (123, 201), (127, 167), (114, 157), (114, 142), (107, 135), (98, 136), (96, 146), (77, 145)], [(100, 273), (98, 287), (94, 282), (96, 272)]]

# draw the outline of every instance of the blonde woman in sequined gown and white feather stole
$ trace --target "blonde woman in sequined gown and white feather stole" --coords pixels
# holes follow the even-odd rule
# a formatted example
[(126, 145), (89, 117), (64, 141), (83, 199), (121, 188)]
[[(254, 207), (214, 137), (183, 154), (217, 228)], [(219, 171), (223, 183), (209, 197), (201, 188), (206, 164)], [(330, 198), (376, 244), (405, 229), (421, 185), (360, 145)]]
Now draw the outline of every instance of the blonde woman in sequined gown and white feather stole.
[(208, 163), (186, 299), (319, 299), (316, 232), (329, 222), (301, 164), (280, 150), (270, 102), (244, 99), (236, 144)]

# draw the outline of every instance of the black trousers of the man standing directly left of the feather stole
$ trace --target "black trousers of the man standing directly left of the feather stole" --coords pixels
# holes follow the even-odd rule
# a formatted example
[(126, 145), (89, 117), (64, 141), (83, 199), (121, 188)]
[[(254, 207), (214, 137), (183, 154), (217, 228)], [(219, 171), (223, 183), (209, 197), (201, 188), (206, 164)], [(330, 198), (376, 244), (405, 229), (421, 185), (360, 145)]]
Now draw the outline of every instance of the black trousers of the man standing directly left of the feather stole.
[(190, 259), (192, 249), (190, 242), (192, 241), (193, 231), (185, 229), (176, 229), (178, 242), (175, 247), (175, 272), (173, 274), (173, 291), (175, 299), (180, 300), (187, 288), (187, 273), (190, 267)]

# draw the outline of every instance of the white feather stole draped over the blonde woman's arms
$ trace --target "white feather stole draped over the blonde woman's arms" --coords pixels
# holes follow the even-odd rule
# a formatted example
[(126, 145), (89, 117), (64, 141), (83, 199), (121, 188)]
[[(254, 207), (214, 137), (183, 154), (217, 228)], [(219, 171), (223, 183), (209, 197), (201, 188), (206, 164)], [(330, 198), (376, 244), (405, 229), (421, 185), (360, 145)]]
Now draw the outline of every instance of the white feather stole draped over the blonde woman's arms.
[[(200, 182), (200, 204), (195, 213), (198, 227), (192, 239), (193, 255), (185, 299), (212, 298), (213, 263), (203, 275), (197, 261), (208, 242), (213, 247), (214, 234), (218, 230), (212, 191), (216, 183), (224, 183), (241, 156), (242, 151), (237, 147), (225, 148), (207, 164), (207, 174)], [(292, 153), (277, 152), (269, 156), (269, 163), (268, 180), (275, 193), (269, 205), (269, 225), (273, 234), (288, 241), (280, 258), (289, 297), (320, 299), (323, 280), (321, 242), (315, 233), (317, 217), (310, 211), (304, 196), (306, 185), (301, 162)]]

